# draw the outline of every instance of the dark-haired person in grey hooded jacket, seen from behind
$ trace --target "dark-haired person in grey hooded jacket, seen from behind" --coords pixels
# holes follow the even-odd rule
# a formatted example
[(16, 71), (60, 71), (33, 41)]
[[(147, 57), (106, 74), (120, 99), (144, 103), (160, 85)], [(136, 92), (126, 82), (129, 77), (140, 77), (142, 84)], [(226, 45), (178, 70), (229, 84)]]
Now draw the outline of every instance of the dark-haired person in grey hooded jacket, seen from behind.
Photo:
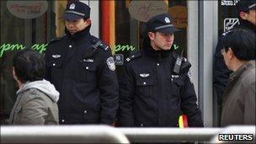
[(39, 53), (23, 50), (13, 57), (13, 78), (19, 90), (10, 125), (58, 125), (56, 102), (60, 93), (43, 79), (44, 75), (45, 61)]

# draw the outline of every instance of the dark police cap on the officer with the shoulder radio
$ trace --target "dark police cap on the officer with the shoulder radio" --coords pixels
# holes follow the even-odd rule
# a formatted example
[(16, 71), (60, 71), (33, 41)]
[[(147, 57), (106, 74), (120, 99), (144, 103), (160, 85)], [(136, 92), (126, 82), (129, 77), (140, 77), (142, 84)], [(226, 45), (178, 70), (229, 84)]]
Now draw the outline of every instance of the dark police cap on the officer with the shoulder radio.
[(173, 34), (175, 31), (179, 31), (173, 25), (173, 20), (168, 13), (158, 14), (146, 23), (147, 32), (161, 32), (163, 34)]

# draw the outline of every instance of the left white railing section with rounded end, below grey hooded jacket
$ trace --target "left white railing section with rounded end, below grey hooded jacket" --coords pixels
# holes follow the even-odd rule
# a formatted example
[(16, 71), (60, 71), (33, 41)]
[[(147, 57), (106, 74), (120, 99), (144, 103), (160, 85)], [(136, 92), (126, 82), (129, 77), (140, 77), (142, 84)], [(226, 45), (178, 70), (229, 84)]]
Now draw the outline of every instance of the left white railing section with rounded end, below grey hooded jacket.
[(130, 143), (106, 125), (1, 126), (1, 143)]

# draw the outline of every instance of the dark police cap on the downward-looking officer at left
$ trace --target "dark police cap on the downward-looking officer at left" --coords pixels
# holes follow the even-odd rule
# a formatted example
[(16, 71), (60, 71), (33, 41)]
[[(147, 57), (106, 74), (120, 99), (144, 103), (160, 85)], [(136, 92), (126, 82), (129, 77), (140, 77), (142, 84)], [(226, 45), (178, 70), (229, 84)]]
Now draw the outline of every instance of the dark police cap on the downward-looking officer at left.
[(90, 18), (90, 10), (87, 4), (78, 0), (67, 3), (67, 8), (63, 14), (63, 19), (76, 20)]

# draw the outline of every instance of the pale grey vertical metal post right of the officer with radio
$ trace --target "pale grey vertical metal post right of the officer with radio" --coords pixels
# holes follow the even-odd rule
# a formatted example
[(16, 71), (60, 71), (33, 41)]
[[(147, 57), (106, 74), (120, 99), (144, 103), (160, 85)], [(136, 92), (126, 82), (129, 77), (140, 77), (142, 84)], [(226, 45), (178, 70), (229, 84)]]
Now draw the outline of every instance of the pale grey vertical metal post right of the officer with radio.
[(199, 1), (199, 94), (205, 126), (213, 124), (212, 65), (217, 42), (218, 1)]

